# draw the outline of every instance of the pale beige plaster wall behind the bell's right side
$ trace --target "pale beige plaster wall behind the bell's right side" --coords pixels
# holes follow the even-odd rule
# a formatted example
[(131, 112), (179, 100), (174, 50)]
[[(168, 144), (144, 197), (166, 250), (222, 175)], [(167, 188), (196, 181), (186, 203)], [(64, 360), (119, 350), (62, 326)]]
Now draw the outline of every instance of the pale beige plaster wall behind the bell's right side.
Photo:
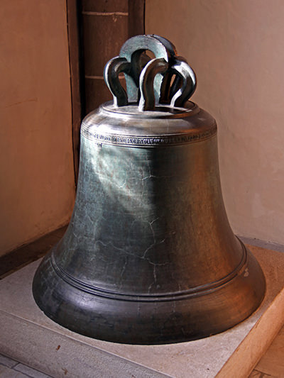
[(197, 73), (193, 101), (219, 126), (234, 232), (284, 244), (284, 1), (146, 0), (146, 33)]

